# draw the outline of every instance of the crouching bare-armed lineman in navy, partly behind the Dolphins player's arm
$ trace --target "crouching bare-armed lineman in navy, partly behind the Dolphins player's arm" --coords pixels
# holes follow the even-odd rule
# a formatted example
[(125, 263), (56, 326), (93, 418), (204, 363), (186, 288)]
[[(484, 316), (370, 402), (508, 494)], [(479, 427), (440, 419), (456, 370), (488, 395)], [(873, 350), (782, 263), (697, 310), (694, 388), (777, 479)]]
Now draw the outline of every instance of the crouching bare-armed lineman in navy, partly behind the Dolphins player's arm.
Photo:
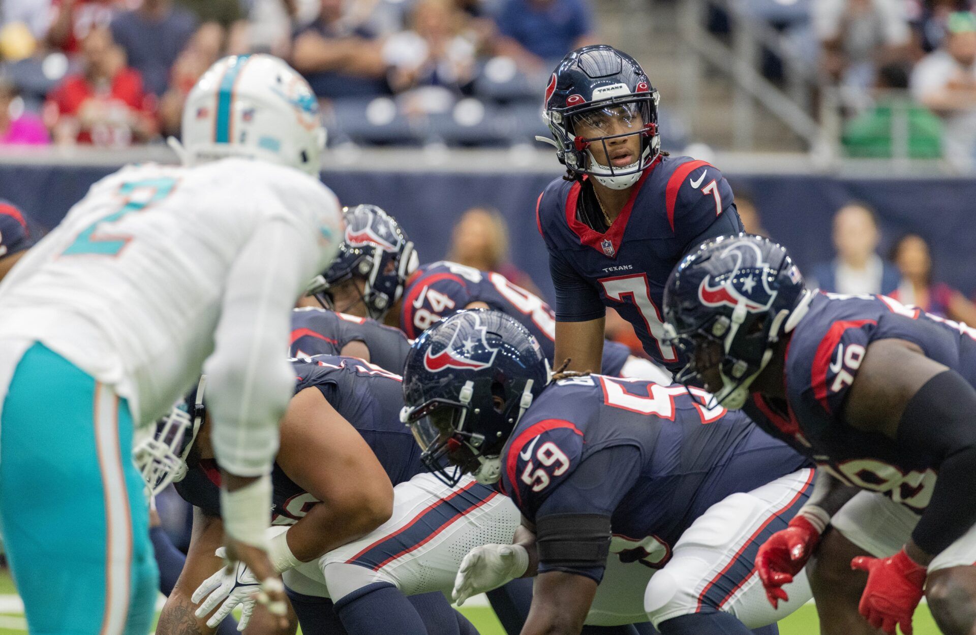
[[(293, 367), (296, 396), (281, 422), (271, 474), (270, 523), (280, 533), (271, 531), (269, 557), (304, 630), (427, 633), (436, 625), (437, 632), (473, 635), (443, 595), (427, 593), (437, 589), (424, 584), (442, 578), (440, 590), (450, 588), (459, 563), (444, 552), (487, 542), (499, 532), (510, 536), (517, 512), (489, 488), (471, 481), (450, 490), (423, 473), (420, 451), (399, 422), (398, 376), (348, 357), (294, 360)], [(182, 473), (174, 475), (177, 491), (198, 510), (194, 537), (160, 616), (161, 635), (183, 632), (189, 606), (196, 609), (189, 620), (200, 629), (194, 632), (211, 632), (239, 603), (244, 615), (252, 608), (247, 598), (253, 575), (239, 566), (228, 586), (213, 555), (222, 535), (220, 470), (203, 407), (204, 383), (189, 400), (194, 422), (180, 449)], [(453, 568), (437, 571), (444, 559)]]

